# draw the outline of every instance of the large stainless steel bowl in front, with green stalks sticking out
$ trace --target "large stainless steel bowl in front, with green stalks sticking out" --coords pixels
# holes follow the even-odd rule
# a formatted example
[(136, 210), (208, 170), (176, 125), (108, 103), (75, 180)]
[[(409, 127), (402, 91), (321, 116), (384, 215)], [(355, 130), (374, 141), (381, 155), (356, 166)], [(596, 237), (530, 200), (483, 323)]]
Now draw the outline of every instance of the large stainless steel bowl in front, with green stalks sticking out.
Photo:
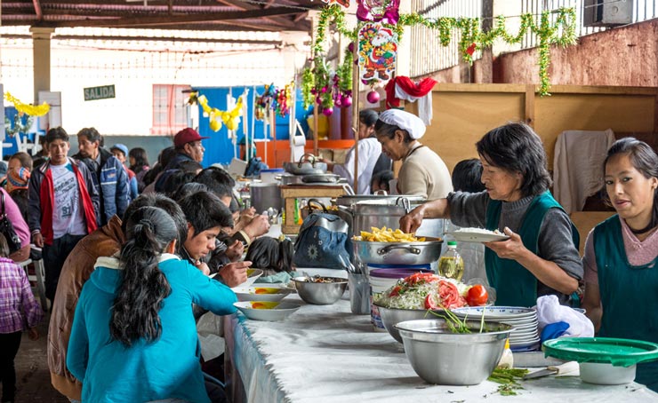
[(405, 344), (406, 358), (425, 382), (474, 385), (484, 381), (501, 360), (512, 327), (467, 320), (473, 333), (452, 333), (445, 320), (409, 320), (395, 325)]

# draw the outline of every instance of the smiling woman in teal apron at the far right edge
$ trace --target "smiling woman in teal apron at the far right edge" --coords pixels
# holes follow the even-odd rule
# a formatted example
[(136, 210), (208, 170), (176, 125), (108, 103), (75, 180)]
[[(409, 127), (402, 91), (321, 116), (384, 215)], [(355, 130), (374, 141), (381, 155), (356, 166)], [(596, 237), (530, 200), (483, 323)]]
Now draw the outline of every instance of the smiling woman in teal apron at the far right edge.
[[(658, 155), (622, 138), (604, 166), (617, 214), (587, 237), (583, 307), (598, 336), (658, 343)], [(658, 362), (639, 364), (636, 381), (658, 391)]]

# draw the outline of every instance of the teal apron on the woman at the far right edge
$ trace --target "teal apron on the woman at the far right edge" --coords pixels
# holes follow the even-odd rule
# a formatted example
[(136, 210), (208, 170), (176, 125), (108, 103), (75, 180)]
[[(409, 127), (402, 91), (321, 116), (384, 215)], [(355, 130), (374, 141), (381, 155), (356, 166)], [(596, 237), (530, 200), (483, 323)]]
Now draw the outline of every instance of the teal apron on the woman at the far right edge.
[[(658, 257), (630, 265), (616, 215), (594, 228), (594, 251), (603, 306), (598, 336), (658, 343)], [(658, 361), (638, 364), (635, 381), (658, 391)]]

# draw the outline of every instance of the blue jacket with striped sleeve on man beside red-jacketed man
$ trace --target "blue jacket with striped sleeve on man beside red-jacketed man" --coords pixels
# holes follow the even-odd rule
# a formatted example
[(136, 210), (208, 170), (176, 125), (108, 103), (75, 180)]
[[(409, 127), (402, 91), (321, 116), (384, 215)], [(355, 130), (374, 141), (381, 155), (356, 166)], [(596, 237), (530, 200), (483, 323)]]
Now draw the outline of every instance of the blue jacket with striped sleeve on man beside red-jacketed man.
[(100, 194), (100, 225), (108, 224), (115, 214), (124, 217), (125, 209), (130, 203), (128, 173), (124, 165), (105, 148), (99, 147), (100, 166), (91, 158), (84, 158), (79, 153), (74, 155), (92, 171), (94, 185)]

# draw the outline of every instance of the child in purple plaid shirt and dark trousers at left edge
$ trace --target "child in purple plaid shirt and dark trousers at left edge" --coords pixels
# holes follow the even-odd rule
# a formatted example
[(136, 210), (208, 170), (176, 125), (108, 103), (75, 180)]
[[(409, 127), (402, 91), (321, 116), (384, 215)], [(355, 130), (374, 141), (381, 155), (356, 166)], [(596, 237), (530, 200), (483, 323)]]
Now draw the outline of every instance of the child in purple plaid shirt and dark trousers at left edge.
[(28, 276), (9, 256), (9, 247), (0, 233), (0, 382), (3, 402), (12, 402), (16, 393), (16, 369), (13, 360), (20, 347), (24, 324), (30, 340), (39, 338), (36, 324), (44, 312), (36, 303)]

